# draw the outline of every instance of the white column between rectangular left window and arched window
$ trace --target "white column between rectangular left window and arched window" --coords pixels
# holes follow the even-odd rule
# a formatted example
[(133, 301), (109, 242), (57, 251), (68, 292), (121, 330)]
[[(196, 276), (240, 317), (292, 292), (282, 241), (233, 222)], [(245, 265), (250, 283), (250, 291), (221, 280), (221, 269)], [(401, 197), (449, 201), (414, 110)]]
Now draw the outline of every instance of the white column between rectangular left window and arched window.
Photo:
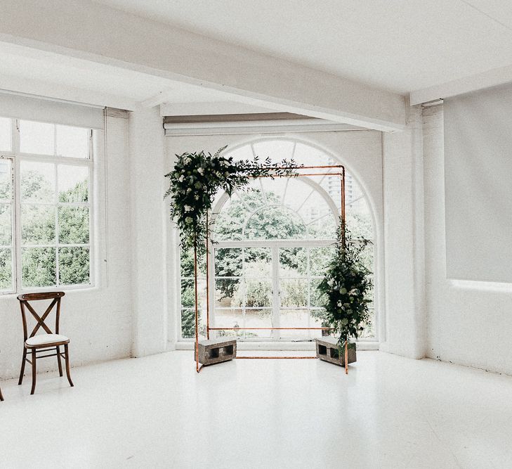
[(132, 354), (144, 356), (164, 352), (167, 345), (164, 129), (158, 108), (138, 108), (129, 122)]

